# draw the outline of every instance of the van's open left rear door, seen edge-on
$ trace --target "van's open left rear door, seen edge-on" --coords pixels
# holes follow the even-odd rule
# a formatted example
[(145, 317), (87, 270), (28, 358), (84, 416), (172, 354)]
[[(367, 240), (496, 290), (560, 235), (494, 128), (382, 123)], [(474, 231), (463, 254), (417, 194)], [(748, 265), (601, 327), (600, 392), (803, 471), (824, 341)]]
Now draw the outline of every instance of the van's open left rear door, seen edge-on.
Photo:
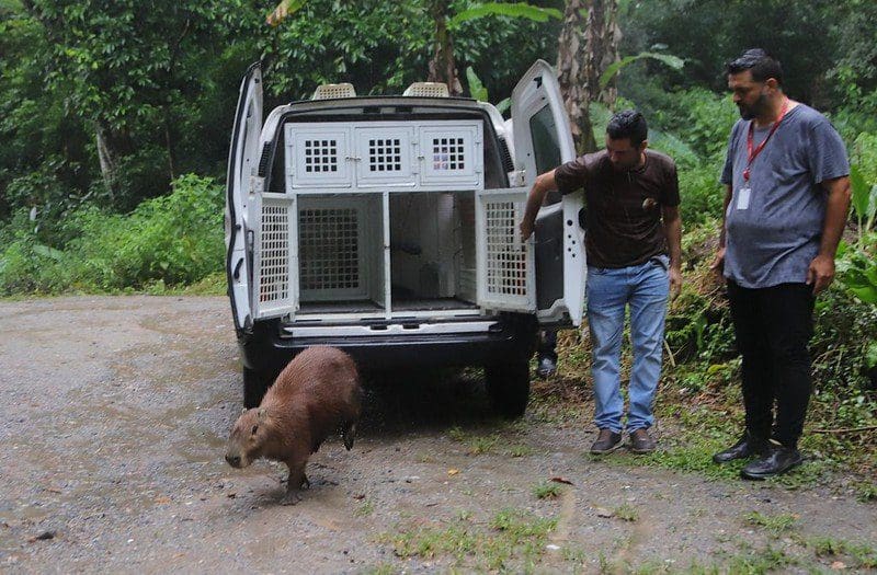
[(249, 221), (248, 196), (251, 176), (259, 165), (259, 135), (262, 131), (262, 70), (259, 62), (247, 70), (240, 85), (226, 176), (226, 273), (235, 329), (252, 327), (253, 310), (249, 286), (252, 278), (254, 222)]

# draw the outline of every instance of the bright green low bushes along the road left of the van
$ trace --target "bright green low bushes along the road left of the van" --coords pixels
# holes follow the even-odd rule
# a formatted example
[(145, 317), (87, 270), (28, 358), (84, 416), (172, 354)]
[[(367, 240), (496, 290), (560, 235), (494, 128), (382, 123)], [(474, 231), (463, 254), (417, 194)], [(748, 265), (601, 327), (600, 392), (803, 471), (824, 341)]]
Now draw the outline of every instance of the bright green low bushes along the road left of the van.
[(187, 285), (223, 269), (223, 189), (212, 179), (185, 175), (168, 196), (141, 203), (127, 216), (82, 208), (61, 225), (73, 238), (41, 244), (26, 216), (3, 235), (0, 294), (141, 289)]

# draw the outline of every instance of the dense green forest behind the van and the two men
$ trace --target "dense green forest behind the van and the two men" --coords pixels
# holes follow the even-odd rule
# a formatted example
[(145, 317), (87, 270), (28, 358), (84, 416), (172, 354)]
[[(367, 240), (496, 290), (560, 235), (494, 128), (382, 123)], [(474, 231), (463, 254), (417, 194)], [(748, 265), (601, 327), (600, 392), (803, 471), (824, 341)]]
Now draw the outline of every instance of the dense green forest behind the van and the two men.
[[(224, 292), (229, 136), (240, 79), (254, 60), (263, 62), (271, 110), (324, 82), (384, 94), (428, 78), (498, 103), (543, 58), (557, 64), (580, 150), (602, 143), (613, 110), (637, 107), (650, 146), (677, 162), (686, 286), (668, 320), (663, 409), (677, 419), (695, 414), (690, 428), (710, 429), (706, 451), (740, 421), (739, 358), (720, 285), (707, 271), (718, 175), (738, 118), (724, 70), (744, 48), (763, 47), (782, 60), (786, 92), (830, 117), (854, 165), (838, 279), (817, 304), (805, 447), (817, 472), (843, 465), (874, 476), (877, 2), (286, 0), (277, 8), (0, 0), (0, 295)], [(561, 346), (561, 379), (580, 381), (586, 342), (573, 335)], [(877, 498), (873, 481), (862, 485), (862, 497)]]

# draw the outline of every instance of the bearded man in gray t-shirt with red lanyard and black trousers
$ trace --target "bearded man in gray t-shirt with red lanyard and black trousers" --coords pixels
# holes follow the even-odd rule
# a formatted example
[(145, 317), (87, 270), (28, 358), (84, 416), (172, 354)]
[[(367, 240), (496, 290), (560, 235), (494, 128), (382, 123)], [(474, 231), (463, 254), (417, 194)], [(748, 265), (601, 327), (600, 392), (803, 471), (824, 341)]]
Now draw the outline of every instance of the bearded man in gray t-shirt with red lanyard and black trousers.
[(779, 62), (764, 50), (731, 61), (728, 87), (742, 119), (721, 175), (725, 221), (713, 267), (727, 278), (743, 356), (745, 432), (713, 459), (756, 456), (741, 474), (760, 480), (801, 463), (813, 301), (834, 277), (850, 165), (829, 120), (783, 93)]

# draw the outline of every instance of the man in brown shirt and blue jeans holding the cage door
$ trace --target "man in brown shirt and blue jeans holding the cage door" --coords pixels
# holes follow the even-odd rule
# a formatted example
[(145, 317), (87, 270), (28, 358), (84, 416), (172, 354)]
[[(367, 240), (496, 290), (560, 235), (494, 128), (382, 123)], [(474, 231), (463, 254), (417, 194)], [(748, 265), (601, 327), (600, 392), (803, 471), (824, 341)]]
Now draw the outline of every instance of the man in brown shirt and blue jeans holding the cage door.
[(528, 238), (548, 191), (584, 188), (588, 325), (600, 429), (592, 453), (613, 451), (622, 442), (619, 364), (627, 308), (634, 348), (627, 432), (635, 452), (656, 448), (648, 428), (654, 422), (668, 296), (682, 288), (682, 221), (675, 163), (647, 150), (647, 136), (642, 114), (615, 114), (606, 127), (605, 150), (536, 179), (521, 222), (521, 233)]

